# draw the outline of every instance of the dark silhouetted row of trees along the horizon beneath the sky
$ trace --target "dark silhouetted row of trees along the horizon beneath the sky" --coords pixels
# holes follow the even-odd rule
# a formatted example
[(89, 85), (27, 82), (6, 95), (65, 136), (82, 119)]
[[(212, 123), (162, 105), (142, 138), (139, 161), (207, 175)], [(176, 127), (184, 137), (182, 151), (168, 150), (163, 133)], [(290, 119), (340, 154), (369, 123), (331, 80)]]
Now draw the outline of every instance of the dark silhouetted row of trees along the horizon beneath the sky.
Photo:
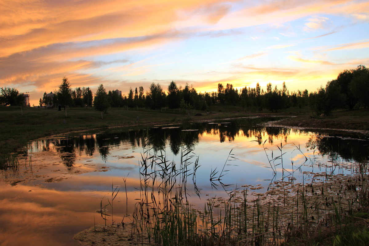
[[(16, 89), (1, 88), (1, 105), (17, 105), (21, 101), (21, 94)], [(270, 110), (277, 112), (289, 107), (310, 107), (318, 115), (330, 115), (332, 110), (346, 108), (353, 110), (359, 107), (369, 106), (369, 69), (359, 65), (356, 69), (344, 70), (339, 73), (337, 79), (328, 81), (325, 87), (321, 86), (317, 91), (308, 93), (307, 90), (290, 92), (286, 83), (282, 88), (273, 88), (268, 83), (266, 90), (259, 83), (256, 87), (244, 87), (240, 90), (233, 88), (232, 84), (226, 86), (219, 83), (217, 91), (198, 93), (188, 83), (182, 87), (172, 81), (169, 83), (166, 93), (158, 83), (152, 83), (145, 92), (142, 86), (130, 88), (128, 94), (121, 94), (118, 90), (106, 91), (100, 84), (96, 93), (92, 93), (89, 87), (77, 87), (72, 89), (67, 77), (63, 77), (61, 85), (53, 96), (40, 98), (40, 106), (57, 107), (91, 107), (106, 112), (109, 107), (148, 108), (158, 110), (163, 107), (169, 109), (181, 109), (188, 112), (190, 109), (208, 110), (211, 105), (238, 105), (244, 110)], [(8, 98), (8, 99), (5, 99)], [(10, 98), (10, 99), (9, 99)], [(17, 99), (18, 98), (18, 99)]]

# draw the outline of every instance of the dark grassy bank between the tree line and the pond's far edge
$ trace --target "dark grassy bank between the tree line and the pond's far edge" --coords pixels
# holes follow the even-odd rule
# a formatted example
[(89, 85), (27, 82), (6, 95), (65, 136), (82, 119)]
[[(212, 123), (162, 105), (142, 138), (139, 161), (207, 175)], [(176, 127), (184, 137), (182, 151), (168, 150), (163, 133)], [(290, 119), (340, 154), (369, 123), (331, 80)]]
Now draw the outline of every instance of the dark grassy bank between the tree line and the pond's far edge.
[[(338, 131), (369, 132), (369, 110), (333, 112), (331, 117), (311, 116), (308, 107), (290, 108), (280, 112), (245, 112), (241, 107), (217, 105), (208, 114), (192, 110), (191, 115), (182, 114), (179, 110), (125, 110), (110, 108), (104, 119), (93, 110), (71, 108), (68, 118), (54, 109), (25, 108), (20, 114), (17, 107), (1, 108), (3, 118), (0, 120), (0, 167), (3, 163), (13, 162), (13, 153), (27, 145), (29, 141), (66, 132), (84, 131), (86, 129), (103, 129), (113, 127), (129, 127), (152, 124), (175, 124), (193, 121), (211, 121), (245, 117), (288, 117), (279, 121), (283, 127), (304, 129), (332, 129)], [(195, 116), (201, 114), (200, 116)]]

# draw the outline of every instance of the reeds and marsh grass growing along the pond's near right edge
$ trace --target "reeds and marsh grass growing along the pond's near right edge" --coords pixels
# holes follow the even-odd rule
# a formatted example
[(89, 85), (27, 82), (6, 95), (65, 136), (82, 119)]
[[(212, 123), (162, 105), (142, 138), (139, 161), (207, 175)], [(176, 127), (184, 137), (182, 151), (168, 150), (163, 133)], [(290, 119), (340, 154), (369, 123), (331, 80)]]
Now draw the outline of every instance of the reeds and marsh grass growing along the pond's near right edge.
[[(231, 151), (223, 169), (210, 174), (212, 187), (222, 186), (228, 197), (208, 198), (203, 209), (195, 209), (188, 196), (200, 197), (198, 156), (184, 148), (176, 164), (165, 151), (155, 154), (146, 149), (141, 155), (141, 199), (133, 222), (138, 245), (368, 245), (368, 163), (319, 163), (314, 151), (310, 160), (304, 156), (311, 172), (300, 166), (291, 173), (282, 160), (283, 145), (278, 150), (278, 156), (268, 157), (274, 174), (268, 191), (229, 190), (221, 182), (233, 159)], [(296, 151), (301, 152), (299, 146)], [(279, 164), (286, 174), (276, 180)], [(323, 171), (313, 172), (314, 166)], [(336, 167), (351, 174), (335, 174)], [(302, 173), (302, 183), (294, 183), (294, 172)]]

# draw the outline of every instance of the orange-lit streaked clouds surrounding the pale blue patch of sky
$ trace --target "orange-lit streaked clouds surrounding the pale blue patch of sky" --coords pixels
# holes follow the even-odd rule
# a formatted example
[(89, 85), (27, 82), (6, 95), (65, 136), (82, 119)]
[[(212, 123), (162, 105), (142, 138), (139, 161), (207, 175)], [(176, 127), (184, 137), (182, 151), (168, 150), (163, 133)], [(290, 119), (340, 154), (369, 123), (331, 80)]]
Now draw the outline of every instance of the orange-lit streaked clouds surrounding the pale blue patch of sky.
[[(272, 0), (268, 3), (245, 3), (241, 0), (0, 0), (0, 86), (22, 85), (27, 91), (33, 90), (36, 94), (38, 91), (56, 88), (63, 76), (73, 78), (72, 86), (93, 86), (99, 83), (106, 86), (123, 85), (128, 82), (117, 79), (124, 74), (119, 70), (111, 70), (111, 77), (118, 73), (113, 79), (108, 73), (97, 75), (97, 69), (109, 62), (96, 61), (96, 56), (115, 54), (119, 58), (114, 58), (111, 64), (115, 60), (125, 63), (132, 58), (126, 57), (127, 53), (121, 55), (123, 52), (139, 51), (145, 54), (159, 48), (165, 49), (166, 45), (174, 42), (180, 44), (180, 41), (190, 37), (241, 36), (243, 30), (236, 28), (263, 24), (277, 27), (299, 18), (308, 18), (306, 27), (316, 29), (324, 27), (324, 22), (328, 20), (311, 16), (341, 14), (355, 21), (365, 21), (367, 13), (367, 1), (348, 0)], [(287, 36), (296, 35), (292, 30), (284, 30), (282, 33)], [(267, 48), (290, 46), (293, 45), (271, 45)], [(327, 49), (355, 47), (368, 47), (368, 42)], [(240, 59), (251, 59), (263, 54), (255, 53)], [(299, 61), (308, 62), (302, 58)], [(315, 61), (318, 62), (323, 61)], [(148, 67), (141, 66), (132, 70), (131, 66), (131, 70), (124, 72), (126, 76), (144, 74), (149, 72)], [(212, 81), (225, 81), (229, 78), (229, 81), (241, 85), (262, 76), (264, 79), (271, 79), (272, 75), (277, 79), (295, 76), (293, 71), (283, 72), (278, 69), (268, 72), (250, 69), (246, 73), (241, 71), (224, 72), (220, 79)], [(131, 82), (150, 84), (154, 80)], [(201, 83), (206, 87), (205, 83), (215, 82), (204, 79)]]

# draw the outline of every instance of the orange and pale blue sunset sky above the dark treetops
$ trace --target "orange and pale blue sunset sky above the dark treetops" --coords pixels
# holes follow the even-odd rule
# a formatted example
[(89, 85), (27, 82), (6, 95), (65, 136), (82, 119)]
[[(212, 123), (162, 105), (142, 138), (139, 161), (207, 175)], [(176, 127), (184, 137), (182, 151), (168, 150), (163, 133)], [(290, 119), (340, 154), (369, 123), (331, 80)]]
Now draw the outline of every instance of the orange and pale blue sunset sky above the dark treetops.
[(369, 1), (0, 0), (0, 87), (30, 94), (173, 80), (315, 91), (369, 66)]

